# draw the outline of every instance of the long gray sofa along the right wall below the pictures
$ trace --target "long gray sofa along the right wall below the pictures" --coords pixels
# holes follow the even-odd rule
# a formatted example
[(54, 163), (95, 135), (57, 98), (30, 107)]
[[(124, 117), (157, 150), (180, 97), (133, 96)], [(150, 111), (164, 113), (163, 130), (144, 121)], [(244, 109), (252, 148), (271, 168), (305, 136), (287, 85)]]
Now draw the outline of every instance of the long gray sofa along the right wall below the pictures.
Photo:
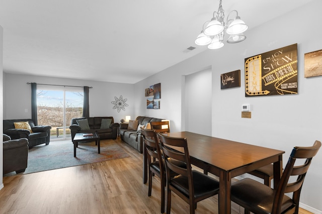
[[(163, 119), (138, 116), (135, 120), (138, 121), (138, 125), (139, 125), (138, 127), (140, 127), (140, 125), (146, 125), (151, 121), (162, 121)], [(120, 137), (125, 143), (129, 144), (131, 147), (133, 147), (140, 153), (143, 153), (143, 138), (141, 136), (140, 129), (129, 130), (127, 123), (121, 123)]]

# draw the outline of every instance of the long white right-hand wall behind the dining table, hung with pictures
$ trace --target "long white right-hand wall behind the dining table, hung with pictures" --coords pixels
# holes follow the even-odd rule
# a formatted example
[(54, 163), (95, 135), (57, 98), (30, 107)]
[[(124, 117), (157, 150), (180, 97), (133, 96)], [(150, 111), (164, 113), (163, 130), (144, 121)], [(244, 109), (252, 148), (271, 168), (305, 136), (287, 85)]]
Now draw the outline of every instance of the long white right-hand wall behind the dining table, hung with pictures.
[[(322, 76), (304, 78), (304, 53), (322, 49), (322, 30), (317, 27), (322, 19), (320, 8), (322, 1), (313, 1), (249, 30), (242, 43), (206, 50), (136, 83), (135, 114), (170, 119), (172, 132), (185, 131), (180, 112), (184, 94), (182, 76), (211, 67), (212, 136), (283, 150), (285, 165), (294, 146), (311, 146), (315, 140), (322, 141)], [(245, 97), (245, 58), (294, 43), (298, 44), (298, 94)], [(238, 69), (241, 87), (221, 90), (220, 74)], [(146, 110), (144, 88), (157, 82), (162, 83), (161, 108)], [(252, 119), (241, 118), (243, 103), (251, 104)], [(313, 159), (302, 188), (300, 201), (305, 208), (322, 210), (322, 186), (318, 185), (322, 180), (321, 169), (322, 151)]]

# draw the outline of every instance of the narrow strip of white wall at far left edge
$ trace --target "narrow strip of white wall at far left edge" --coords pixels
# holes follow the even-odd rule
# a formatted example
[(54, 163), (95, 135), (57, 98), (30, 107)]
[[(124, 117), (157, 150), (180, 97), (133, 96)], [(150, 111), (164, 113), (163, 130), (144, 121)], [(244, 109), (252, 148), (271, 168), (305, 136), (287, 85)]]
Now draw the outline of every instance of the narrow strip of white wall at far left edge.
[[(0, 120), (4, 119), (3, 106), (4, 106), (4, 94), (3, 94), (3, 40), (4, 40), (4, 29), (0, 26)], [(4, 131), (4, 124), (0, 124), (0, 134)], [(3, 138), (0, 140), (0, 151), (4, 150)], [(4, 167), (4, 153), (0, 152), (0, 189), (4, 187), (3, 183), (3, 168)]]

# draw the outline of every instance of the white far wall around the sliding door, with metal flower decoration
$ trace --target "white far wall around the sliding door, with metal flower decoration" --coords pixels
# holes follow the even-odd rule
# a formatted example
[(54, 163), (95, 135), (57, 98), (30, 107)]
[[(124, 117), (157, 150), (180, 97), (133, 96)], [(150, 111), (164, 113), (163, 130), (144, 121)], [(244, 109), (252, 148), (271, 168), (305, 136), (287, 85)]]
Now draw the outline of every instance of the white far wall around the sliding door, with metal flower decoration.
[[(73, 86), (92, 86), (90, 89), (90, 117), (112, 116), (119, 123), (126, 115), (134, 115), (134, 85), (85, 81), (64, 78), (51, 78), (31, 75), (18, 75), (4, 73), (4, 119), (28, 119), (31, 118), (31, 86), (27, 82), (38, 84), (59, 84)], [(117, 112), (113, 109), (115, 96), (127, 98), (125, 111)], [(25, 109), (28, 110), (25, 113)], [(69, 124), (67, 124), (69, 125)]]

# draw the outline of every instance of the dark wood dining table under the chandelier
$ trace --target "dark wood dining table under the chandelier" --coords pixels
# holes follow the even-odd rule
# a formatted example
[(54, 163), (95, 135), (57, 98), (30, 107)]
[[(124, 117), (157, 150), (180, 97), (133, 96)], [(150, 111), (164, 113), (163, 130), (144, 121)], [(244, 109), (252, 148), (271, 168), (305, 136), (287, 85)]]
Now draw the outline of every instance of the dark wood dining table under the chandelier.
[[(280, 180), (283, 166), (281, 150), (200, 135), (192, 132), (166, 134), (170, 137), (186, 138), (191, 164), (219, 177), (219, 213), (231, 212), (231, 178), (273, 163), (274, 188)], [(179, 150), (180, 151), (180, 150)], [(143, 183), (147, 181), (147, 159), (143, 152)]]

